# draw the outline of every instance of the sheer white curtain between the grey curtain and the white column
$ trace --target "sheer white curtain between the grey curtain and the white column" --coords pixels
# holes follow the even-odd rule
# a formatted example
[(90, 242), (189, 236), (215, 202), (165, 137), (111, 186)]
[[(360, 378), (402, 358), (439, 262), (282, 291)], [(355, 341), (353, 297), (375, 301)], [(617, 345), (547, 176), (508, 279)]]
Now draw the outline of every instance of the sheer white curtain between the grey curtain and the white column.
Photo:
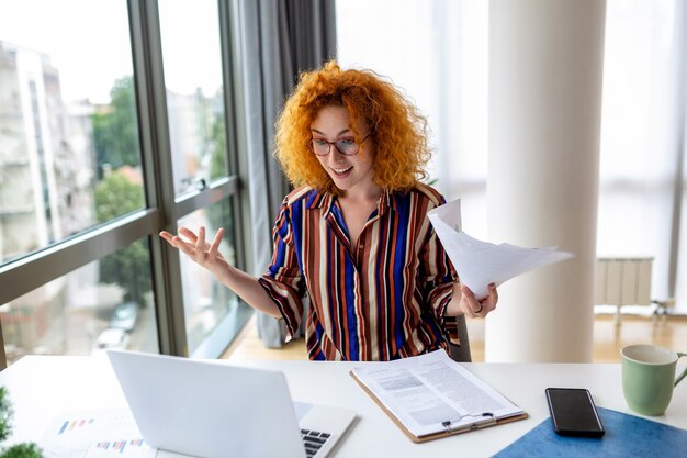
[(388, 77), (416, 102), (432, 130), (430, 181), (461, 198), (476, 237), (486, 236), (487, 27), (487, 1), (337, 2), (339, 63)]

